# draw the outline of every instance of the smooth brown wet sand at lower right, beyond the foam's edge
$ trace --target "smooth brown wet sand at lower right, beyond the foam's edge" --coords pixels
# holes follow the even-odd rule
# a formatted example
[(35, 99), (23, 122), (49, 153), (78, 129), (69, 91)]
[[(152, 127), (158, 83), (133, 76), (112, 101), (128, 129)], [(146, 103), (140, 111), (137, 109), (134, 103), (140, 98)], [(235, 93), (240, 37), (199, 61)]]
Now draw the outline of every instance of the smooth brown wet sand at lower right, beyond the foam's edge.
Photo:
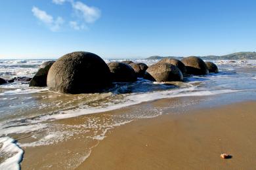
[(249, 101), (137, 120), (108, 132), (77, 169), (254, 169), (255, 110)]

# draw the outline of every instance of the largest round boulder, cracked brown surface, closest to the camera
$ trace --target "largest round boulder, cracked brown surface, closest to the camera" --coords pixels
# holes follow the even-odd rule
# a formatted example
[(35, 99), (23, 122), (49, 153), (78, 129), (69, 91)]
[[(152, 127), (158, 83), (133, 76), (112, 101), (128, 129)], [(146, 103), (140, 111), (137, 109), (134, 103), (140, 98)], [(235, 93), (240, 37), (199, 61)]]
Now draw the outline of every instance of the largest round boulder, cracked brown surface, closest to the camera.
[(59, 58), (49, 69), (49, 90), (61, 93), (102, 92), (110, 86), (110, 69), (91, 52), (72, 52)]

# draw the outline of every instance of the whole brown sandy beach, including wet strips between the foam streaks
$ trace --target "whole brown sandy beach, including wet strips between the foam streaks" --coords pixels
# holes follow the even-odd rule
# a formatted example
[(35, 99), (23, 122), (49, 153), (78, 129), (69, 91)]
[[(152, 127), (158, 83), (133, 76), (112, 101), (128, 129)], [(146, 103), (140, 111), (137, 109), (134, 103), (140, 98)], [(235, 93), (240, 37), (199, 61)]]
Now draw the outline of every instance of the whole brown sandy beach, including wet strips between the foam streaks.
[[(165, 108), (175, 103), (182, 105), (165, 110), (161, 116), (109, 129), (100, 141), (88, 141), (88, 134), (79, 133), (58, 144), (24, 147), (22, 169), (253, 169), (256, 102), (207, 105), (202, 103), (204, 99), (161, 99), (58, 120), (56, 124), (75, 125), (88, 118), (105, 119), (145, 106)], [(195, 104), (184, 107), (188, 102)], [(27, 140), (31, 139), (19, 141), (24, 143)], [(92, 149), (86, 154), (88, 147)], [(231, 154), (232, 158), (223, 160), (221, 153)]]

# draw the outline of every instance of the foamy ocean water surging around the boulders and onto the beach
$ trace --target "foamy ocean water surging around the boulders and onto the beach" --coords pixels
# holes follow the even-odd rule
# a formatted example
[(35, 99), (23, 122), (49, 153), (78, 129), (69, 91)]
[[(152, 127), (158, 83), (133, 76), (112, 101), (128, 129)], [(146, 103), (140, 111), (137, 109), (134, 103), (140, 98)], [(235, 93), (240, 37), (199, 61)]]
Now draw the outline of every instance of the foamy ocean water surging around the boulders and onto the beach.
[[(105, 59), (121, 61), (123, 59)], [(131, 59), (152, 65), (158, 60)], [(49, 60), (1, 60), (0, 77), (30, 76), (37, 72), (41, 63)], [(106, 132), (116, 126), (127, 124), (140, 118), (154, 118), (165, 108), (148, 109), (146, 105), (137, 110), (129, 110), (133, 105), (164, 98), (186, 96), (208, 96), (227, 94), (228, 100), (256, 99), (256, 60), (213, 61), (220, 73), (185, 78), (181, 86), (170, 86), (139, 78), (133, 83), (116, 83), (110, 92), (91, 94), (61, 94), (49, 92), (47, 88), (30, 88), (28, 84), (13, 82), (0, 86), (0, 169), (18, 169), (22, 160), (22, 148), (50, 146), (64, 143), (74, 136), (84, 137), (87, 143), (100, 141)], [(239, 99), (233, 99), (240, 96)], [(193, 103), (191, 103), (193, 104)], [(178, 107), (176, 103), (169, 107)], [(91, 116), (127, 108), (124, 114)], [(80, 124), (58, 123), (66, 118), (90, 115)], [(24, 140), (26, 139), (26, 140)], [(15, 141), (15, 140), (18, 140)], [(63, 167), (75, 168), (91, 152), (92, 146), (69, 156)], [(79, 161), (74, 161), (79, 160)], [(49, 167), (54, 164), (49, 163)], [(59, 167), (59, 165), (58, 165)]]

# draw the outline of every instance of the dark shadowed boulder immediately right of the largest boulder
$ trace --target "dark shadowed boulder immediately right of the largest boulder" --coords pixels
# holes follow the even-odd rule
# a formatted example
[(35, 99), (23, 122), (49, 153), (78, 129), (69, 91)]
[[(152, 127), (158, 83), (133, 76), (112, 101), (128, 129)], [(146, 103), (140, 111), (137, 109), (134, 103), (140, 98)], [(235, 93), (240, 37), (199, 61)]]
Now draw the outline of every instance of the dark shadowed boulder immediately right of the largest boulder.
[(110, 62), (108, 67), (114, 82), (134, 82), (137, 80), (137, 75), (130, 65), (121, 62)]

